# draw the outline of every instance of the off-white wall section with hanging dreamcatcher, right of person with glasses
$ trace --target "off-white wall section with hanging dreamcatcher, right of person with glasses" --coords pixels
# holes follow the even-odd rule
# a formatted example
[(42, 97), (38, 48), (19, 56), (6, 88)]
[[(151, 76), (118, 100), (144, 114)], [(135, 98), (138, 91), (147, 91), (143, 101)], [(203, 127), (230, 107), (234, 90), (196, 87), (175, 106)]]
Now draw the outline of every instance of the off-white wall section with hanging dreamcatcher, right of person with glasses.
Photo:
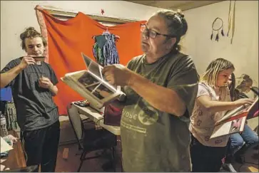
[[(228, 8), (229, 1), (222, 1), (184, 11), (189, 28), (183, 51), (193, 57), (198, 73), (203, 73), (213, 59), (225, 58), (235, 65), (236, 76), (246, 73), (258, 82), (258, 1), (236, 1), (233, 44), (231, 37), (226, 37)], [(218, 42), (216, 32), (214, 40), (210, 40), (211, 24), (217, 17), (223, 19), (225, 32), (225, 37), (220, 34)]]

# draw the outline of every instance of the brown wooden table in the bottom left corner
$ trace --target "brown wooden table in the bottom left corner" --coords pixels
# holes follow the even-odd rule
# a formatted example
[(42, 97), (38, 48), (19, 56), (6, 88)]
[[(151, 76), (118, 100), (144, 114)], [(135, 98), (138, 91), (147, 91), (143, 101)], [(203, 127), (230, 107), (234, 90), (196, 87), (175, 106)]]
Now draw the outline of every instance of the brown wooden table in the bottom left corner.
[[(9, 131), (9, 135), (19, 137), (17, 132), (13, 130)], [(24, 151), (22, 150), (20, 140), (17, 140), (17, 142), (14, 143), (13, 148), (13, 150), (9, 151), (9, 156), (7, 157), (6, 161), (2, 162), (1, 164), (5, 167), (8, 167), (9, 169), (19, 169), (21, 167), (26, 167)]]

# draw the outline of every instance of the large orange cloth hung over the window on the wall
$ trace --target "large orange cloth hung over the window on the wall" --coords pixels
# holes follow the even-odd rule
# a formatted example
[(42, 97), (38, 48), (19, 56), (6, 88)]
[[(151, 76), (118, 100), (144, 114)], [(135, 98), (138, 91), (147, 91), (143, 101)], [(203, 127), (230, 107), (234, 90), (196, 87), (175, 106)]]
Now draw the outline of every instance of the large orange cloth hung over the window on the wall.
[[(95, 61), (93, 57), (92, 36), (101, 35), (106, 26), (79, 12), (68, 21), (61, 21), (51, 16), (47, 11), (36, 6), (36, 16), (41, 26), (41, 33), (48, 41), (46, 61), (54, 69), (59, 83), (59, 93), (54, 97), (59, 106), (59, 114), (66, 115), (66, 105), (72, 101), (82, 100), (80, 95), (64, 84), (60, 78), (66, 73), (86, 69), (81, 52)], [(141, 55), (141, 23), (124, 23), (108, 27), (108, 31), (120, 36), (116, 47), (120, 63), (126, 65), (134, 56)]]

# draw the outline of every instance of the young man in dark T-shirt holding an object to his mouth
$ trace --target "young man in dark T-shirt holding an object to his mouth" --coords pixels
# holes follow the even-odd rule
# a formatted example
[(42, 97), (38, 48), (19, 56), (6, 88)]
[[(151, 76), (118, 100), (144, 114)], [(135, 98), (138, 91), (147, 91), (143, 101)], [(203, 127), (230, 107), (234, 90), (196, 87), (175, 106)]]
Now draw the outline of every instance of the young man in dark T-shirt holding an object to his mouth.
[(20, 38), (27, 55), (1, 70), (1, 88), (11, 86), (27, 166), (41, 164), (41, 172), (55, 172), (60, 125), (52, 96), (58, 93), (58, 80), (51, 65), (35, 58), (46, 48), (41, 34), (30, 27)]

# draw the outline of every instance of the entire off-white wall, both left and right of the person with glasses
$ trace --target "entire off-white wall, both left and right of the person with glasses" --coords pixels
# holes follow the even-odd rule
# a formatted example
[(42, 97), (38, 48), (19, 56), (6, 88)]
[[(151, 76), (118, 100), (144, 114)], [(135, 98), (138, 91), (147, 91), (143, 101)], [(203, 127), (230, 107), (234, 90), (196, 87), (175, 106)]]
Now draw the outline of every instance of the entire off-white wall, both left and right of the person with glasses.
[[(28, 26), (39, 31), (34, 7), (54, 6), (85, 14), (101, 14), (126, 19), (147, 20), (158, 8), (126, 1), (1, 1), (1, 69), (11, 59), (24, 55), (19, 34)], [(258, 81), (258, 1), (236, 1), (235, 36), (220, 36), (210, 41), (211, 24), (216, 17), (228, 28), (229, 1), (185, 11), (188, 33), (183, 39), (183, 51), (193, 57), (198, 73), (203, 73), (215, 58), (226, 58), (235, 65), (235, 74), (246, 73)], [(215, 36), (215, 35), (214, 35)], [(258, 122), (257, 122), (258, 123)]]

